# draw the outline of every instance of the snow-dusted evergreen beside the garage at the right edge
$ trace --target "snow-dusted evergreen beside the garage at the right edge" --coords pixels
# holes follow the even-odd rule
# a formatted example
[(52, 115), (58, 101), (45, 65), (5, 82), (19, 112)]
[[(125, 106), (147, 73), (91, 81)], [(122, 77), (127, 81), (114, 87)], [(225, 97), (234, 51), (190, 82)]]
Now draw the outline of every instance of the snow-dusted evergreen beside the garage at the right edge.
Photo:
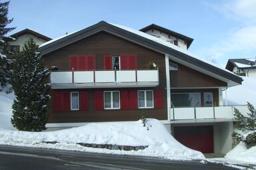
[(248, 110), (250, 113), (247, 113), (248, 116), (243, 116), (237, 108), (235, 108), (235, 128), (247, 133), (243, 135), (239, 132), (233, 132), (232, 137), (237, 139), (237, 141), (245, 142), (247, 148), (256, 145), (256, 110), (252, 104), (247, 102)]

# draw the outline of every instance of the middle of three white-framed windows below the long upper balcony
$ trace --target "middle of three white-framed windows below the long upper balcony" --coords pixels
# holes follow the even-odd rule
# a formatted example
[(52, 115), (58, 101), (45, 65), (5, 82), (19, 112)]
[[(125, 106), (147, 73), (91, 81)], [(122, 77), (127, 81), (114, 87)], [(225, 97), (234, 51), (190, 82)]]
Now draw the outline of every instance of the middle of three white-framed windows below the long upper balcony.
[(120, 109), (120, 92), (104, 92), (104, 109)]

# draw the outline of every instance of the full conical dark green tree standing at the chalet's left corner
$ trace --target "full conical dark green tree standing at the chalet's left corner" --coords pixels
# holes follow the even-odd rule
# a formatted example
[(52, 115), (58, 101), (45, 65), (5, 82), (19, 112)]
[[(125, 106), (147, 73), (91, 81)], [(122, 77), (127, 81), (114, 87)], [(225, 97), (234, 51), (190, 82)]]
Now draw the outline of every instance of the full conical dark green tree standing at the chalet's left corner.
[(13, 102), (11, 123), (19, 130), (42, 131), (47, 122), (46, 84), (48, 68), (43, 66), (43, 58), (37, 52), (37, 45), (29, 39), (14, 62), (11, 85), (16, 99)]

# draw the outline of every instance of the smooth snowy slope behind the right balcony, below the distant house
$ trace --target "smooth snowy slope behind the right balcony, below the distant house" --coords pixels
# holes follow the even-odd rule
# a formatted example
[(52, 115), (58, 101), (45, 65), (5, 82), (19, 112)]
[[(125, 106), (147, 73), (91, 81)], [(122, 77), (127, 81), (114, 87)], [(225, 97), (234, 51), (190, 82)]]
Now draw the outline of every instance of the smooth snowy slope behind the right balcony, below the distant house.
[[(227, 104), (228, 105), (241, 105), (250, 102), (256, 107), (256, 78), (244, 77), (242, 85), (227, 88)], [(225, 104), (225, 92), (223, 92), (223, 103)]]

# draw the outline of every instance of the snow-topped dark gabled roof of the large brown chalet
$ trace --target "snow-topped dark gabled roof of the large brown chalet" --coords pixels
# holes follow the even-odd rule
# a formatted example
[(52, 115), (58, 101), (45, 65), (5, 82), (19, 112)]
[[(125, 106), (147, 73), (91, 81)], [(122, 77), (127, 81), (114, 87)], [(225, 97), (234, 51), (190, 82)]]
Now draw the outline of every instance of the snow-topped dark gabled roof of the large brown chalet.
[[(170, 56), (173, 56), (173, 58), (177, 58), (177, 60), (182, 60), (185, 62), (181, 64), (195, 66), (194, 69), (199, 69), (205, 74), (209, 73), (213, 77), (216, 76), (215, 78), (222, 78), (220, 80), (225, 82), (232, 80), (234, 84), (232, 83), (231, 86), (237, 83), (241, 84), (242, 79), (239, 78), (236, 74), (233, 74), (233, 72), (230, 72), (229, 70), (226, 70), (225, 68), (222, 68), (221, 66), (210, 62), (209, 60), (200, 58), (188, 50), (185, 50), (179, 46), (176, 46), (175, 44), (171, 44), (170, 42), (164, 41), (147, 33), (143, 33), (142, 31), (125, 27), (123, 25), (107, 23), (105, 21), (101, 21), (96, 25), (92, 25), (91, 27), (87, 27), (86, 29), (76, 31), (69, 35), (64, 35), (63, 37), (53, 39), (52, 41), (45, 42), (39, 46), (39, 51), (41, 51), (41, 54), (44, 55), (52, 52), (53, 50), (57, 50), (58, 48), (62, 48), (63, 46), (67, 46), (68, 44), (71, 44), (75, 41), (79, 41), (85, 37), (98, 33), (99, 31), (106, 31), (107, 33), (112, 33), (113, 35), (117, 35), (129, 41), (139, 43), (142, 46), (157, 50), (163, 54), (169, 54)], [(219, 74), (222, 74), (222, 76), (219, 76)], [(223, 79), (223, 77), (225, 78)]]

